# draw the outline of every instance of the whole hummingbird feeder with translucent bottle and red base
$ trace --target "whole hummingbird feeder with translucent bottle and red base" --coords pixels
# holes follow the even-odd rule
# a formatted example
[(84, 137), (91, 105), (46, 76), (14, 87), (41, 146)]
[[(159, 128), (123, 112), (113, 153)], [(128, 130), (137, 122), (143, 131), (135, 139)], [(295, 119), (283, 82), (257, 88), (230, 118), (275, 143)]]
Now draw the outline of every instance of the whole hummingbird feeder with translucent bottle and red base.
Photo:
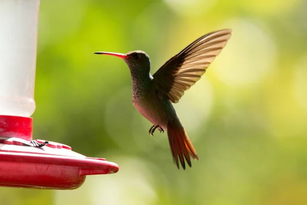
[(0, 1), (0, 186), (77, 189), (114, 162), (32, 139), (39, 0)]

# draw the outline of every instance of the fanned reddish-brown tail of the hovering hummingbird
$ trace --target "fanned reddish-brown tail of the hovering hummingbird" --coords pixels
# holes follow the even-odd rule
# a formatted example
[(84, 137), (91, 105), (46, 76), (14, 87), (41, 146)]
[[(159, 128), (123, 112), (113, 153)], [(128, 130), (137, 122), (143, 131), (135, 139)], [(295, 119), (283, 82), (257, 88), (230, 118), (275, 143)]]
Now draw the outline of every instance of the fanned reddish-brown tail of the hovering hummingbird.
[(198, 160), (199, 158), (184, 128), (172, 122), (168, 122), (167, 135), (168, 135), (171, 154), (178, 169), (179, 169), (179, 160), (184, 170), (185, 170), (185, 160), (188, 163), (189, 167), (191, 167), (192, 166), (191, 157), (195, 160)]

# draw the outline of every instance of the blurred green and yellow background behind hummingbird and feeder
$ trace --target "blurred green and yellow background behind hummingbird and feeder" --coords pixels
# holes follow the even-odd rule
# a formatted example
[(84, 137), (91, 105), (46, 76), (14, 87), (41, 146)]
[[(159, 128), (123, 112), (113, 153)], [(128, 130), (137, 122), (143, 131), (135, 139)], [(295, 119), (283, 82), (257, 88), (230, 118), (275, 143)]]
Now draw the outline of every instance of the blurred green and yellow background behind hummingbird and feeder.
[[(34, 138), (116, 162), (73, 191), (1, 188), (0, 204), (307, 204), (307, 1), (41, 1)], [(199, 36), (233, 35), (174, 105), (200, 156), (177, 170), (131, 103), (124, 61), (151, 73)]]

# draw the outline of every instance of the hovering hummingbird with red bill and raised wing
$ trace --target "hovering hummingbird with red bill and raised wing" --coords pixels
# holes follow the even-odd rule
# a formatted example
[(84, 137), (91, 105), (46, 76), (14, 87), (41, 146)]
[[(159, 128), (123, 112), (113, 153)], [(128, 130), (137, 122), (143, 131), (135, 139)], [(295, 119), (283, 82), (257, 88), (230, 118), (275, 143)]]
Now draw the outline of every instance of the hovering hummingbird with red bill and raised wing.
[(144, 51), (94, 53), (117, 56), (125, 61), (131, 74), (133, 105), (151, 122), (151, 136), (156, 129), (160, 133), (167, 132), (172, 158), (178, 169), (179, 161), (185, 170), (186, 163), (192, 166), (191, 158), (199, 160), (199, 157), (172, 103), (178, 103), (184, 92), (206, 72), (226, 46), (231, 32), (231, 29), (224, 29), (201, 36), (166, 61), (153, 75), (150, 74), (149, 56)]

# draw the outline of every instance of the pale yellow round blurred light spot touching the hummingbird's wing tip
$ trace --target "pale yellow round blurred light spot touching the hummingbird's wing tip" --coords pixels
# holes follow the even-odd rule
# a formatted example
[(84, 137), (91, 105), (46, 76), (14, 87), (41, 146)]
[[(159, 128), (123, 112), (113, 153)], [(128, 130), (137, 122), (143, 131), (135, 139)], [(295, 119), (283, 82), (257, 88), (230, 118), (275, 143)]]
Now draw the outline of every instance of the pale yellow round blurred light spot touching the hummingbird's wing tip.
[[(216, 60), (213, 72), (228, 85), (259, 83), (274, 68), (276, 46), (270, 36), (246, 19), (231, 19), (223, 23), (233, 34), (227, 47)], [(231, 69), (235, 67), (235, 70)]]

